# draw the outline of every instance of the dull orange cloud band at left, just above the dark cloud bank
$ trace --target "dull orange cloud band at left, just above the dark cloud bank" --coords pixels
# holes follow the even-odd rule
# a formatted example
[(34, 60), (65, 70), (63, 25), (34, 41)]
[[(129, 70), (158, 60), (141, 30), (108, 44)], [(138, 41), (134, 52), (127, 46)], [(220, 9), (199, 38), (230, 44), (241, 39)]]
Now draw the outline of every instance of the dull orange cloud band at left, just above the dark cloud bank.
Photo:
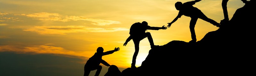
[(18, 54), (56, 54), (68, 57), (84, 57), (83, 53), (66, 50), (62, 47), (53, 47), (46, 45), (32, 45), (28, 47), (4, 45), (0, 46), (0, 52), (15, 52)]

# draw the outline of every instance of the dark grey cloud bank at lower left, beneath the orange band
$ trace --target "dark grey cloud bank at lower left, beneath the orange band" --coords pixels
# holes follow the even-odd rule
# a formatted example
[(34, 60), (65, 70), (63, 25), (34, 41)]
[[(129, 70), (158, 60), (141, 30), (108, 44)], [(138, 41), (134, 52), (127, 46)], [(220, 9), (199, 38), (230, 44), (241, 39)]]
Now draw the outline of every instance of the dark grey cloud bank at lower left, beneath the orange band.
[[(0, 76), (83, 76), (83, 60), (50, 54), (0, 53)], [(85, 63), (85, 62), (84, 62)]]

